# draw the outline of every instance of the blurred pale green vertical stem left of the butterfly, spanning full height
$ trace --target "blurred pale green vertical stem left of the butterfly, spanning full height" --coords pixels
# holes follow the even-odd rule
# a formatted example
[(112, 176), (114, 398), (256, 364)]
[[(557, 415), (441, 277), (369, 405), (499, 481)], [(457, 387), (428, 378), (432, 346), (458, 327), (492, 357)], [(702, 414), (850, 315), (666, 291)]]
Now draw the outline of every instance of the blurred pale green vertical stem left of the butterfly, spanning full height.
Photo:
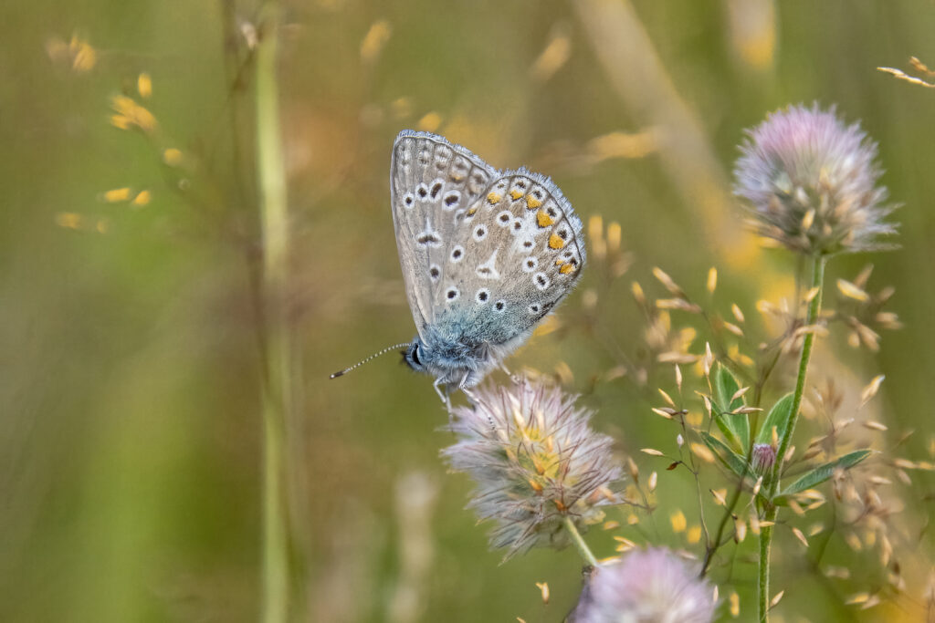
[(276, 77), (280, 7), (267, 2), (256, 50), (256, 167), (263, 239), (266, 383), (263, 392), (263, 616), (284, 623), (289, 609), (289, 541), (285, 488), (285, 421), (291, 408), (291, 353), (284, 309), (288, 214)]

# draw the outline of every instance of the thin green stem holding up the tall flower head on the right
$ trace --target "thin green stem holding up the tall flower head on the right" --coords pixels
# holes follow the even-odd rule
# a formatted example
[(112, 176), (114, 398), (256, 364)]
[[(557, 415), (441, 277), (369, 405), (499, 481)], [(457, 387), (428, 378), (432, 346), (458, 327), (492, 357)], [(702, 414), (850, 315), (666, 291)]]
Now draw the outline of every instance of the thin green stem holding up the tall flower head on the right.
[[(809, 303), (808, 312), (805, 316), (805, 326), (811, 328), (818, 319), (818, 313), (821, 311), (822, 290), (825, 282), (825, 264), (827, 258), (819, 255), (812, 260), (812, 288), (817, 288), (817, 293), (812, 297)], [(758, 581), (758, 610), (759, 620), (765, 623), (770, 619), (770, 551), (772, 548), (772, 535), (774, 526), (771, 525), (776, 520), (779, 509), (771, 501), (779, 490), (780, 470), (783, 464), (785, 453), (788, 452), (789, 444), (792, 442), (792, 434), (796, 431), (796, 422), (798, 421), (798, 411), (802, 405), (802, 394), (805, 392), (805, 380), (808, 376), (809, 360), (812, 357), (812, 347), (815, 334), (813, 331), (805, 333), (802, 341), (802, 354), (798, 360), (798, 377), (796, 378), (796, 390), (792, 395), (792, 408), (789, 410), (789, 421), (786, 424), (783, 438), (779, 441), (779, 449), (776, 451), (776, 461), (773, 463), (772, 472), (769, 479), (768, 503), (764, 520), (770, 525), (760, 531), (759, 542), (759, 581)]]

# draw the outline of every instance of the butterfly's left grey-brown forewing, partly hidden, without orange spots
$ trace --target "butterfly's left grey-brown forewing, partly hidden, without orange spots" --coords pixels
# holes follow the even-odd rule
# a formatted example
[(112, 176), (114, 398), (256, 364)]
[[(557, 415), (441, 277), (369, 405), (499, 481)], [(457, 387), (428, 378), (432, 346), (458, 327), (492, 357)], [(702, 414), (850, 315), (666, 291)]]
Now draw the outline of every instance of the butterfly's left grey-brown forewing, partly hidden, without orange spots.
[(456, 243), (455, 215), (475, 205), (499, 172), (444, 137), (405, 130), (396, 136), (390, 196), (396, 248), (412, 318), (426, 340), (436, 321), (434, 303), (445, 258)]

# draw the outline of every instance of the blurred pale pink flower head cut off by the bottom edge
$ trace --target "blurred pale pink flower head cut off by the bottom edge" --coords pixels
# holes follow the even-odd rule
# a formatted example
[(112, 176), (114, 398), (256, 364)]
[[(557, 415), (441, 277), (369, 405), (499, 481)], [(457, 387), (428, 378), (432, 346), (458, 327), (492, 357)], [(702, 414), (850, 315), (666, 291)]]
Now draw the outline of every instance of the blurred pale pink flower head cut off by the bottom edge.
[(602, 564), (584, 587), (574, 623), (711, 623), (714, 593), (668, 549), (634, 550)]

